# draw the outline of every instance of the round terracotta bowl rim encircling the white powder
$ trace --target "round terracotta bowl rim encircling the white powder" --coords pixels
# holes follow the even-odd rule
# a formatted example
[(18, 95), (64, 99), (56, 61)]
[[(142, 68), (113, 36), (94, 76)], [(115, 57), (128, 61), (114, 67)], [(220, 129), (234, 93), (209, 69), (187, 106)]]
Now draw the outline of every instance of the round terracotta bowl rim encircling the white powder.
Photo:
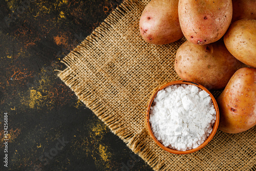
[[(154, 98), (156, 97), (157, 93), (160, 91), (160, 90), (163, 90), (164, 88), (168, 87), (168, 86), (172, 86), (174, 84), (191, 84), (191, 85), (194, 85), (194, 86), (197, 86), (198, 88), (206, 91), (211, 99), (212, 99), (212, 103), (214, 104), (214, 107), (215, 107), (215, 110), (216, 110), (216, 121), (214, 123), (214, 126), (212, 127), (212, 132), (210, 133), (210, 135), (207, 137), (207, 139), (200, 145), (198, 146), (197, 148), (192, 148), (192, 149), (189, 149), (187, 151), (178, 151), (176, 149), (172, 149), (172, 148), (169, 148), (169, 147), (165, 147), (161, 142), (159, 142), (157, 140), (157, 138), (154, 136), (153, 132), (152, 132), (152, 129), (151, 129), (151, 124), (150, 124), (150, 108), (151, 108), (151, 105), (154, 101)], [(147, 124), (147, 130), (148, 132), (150, 133), (150, 136), (153, 138), (153, 140), (161, 147), (163, 148), (165, 151), (169, 152), (169, 153), (173, 153), (173, 154), (189, 154), (189, 153), (193, 153), (193, 152), (196, 152), (196, 151), (199, 151), (200, 149), (202, 149), (205, 145), (207, 145), (209, 143), (209, 141), (214, 137), (217, 129), (218, 129), (218, 125), (219, 125), (219, 121), (220, 121), (220, 113), (219, 113), (219, 108), (218, 108), (218, 104), (216, 102), (216, 99), (214, 98), (214, 96), (212, 96), (212, 94), (206, 89), (204, 88), (203, 86), (201, 86), (200, 84), (198, 83), (195, 83), (195, 82), (190, 82), (190, 81), (184, 81), (184, 80), (178, 80), (178, 81), (172, 81), (172, 82), (168, 82), (166, 84), (164, 84), (163, 86), (161, 86), (158, 90), (156, 90), (153, 94), (153, 96), (150, 98), (150, 101), (147, 105), (147, 110), (146, 110), (146, 124)]]

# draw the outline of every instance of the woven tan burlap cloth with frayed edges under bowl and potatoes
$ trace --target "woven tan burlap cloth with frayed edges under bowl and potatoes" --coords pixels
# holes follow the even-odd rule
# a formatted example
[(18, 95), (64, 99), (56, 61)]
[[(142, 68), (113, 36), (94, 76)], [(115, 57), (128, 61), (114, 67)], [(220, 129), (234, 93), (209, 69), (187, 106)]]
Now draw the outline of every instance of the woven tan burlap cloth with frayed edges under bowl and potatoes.
[[(139, 33), (148, 1), (124, 1), (62, 62), (58, 76), (99, 119), (154, 170), (255, 169), (256, 126), (239, 134), (217, 131), (198, 152), (165, 152), (148, 135), (148, 99), (161, 84), (180, 79), (174, 70), (181, 40), (150, 45)], [(217, 97), (220, 92), (212, 92)]]

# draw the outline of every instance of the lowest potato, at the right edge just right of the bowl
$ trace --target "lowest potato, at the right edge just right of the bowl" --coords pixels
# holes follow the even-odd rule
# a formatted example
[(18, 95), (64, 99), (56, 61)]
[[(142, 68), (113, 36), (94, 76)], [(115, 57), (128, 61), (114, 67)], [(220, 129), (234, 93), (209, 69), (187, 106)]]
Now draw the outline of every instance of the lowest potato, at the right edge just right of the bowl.
[(241, 68), (230, 78), (217, 98), (220, 110), (219, 129), (240, 133), (256, 124), (256, 69)]

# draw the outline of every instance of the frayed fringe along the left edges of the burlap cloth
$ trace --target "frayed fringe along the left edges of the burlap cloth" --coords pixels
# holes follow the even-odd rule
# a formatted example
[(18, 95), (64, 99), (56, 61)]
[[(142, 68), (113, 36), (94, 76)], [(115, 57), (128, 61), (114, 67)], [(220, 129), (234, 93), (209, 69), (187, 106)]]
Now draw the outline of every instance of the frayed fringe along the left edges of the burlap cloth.
[(138, 154), (144, 161), (151, 165), (154, 170), (168, 170), (168, 166), (157, 157), (154, 157), (155, 155), (151, 153), (150, 148), (141, 143), (137, 135), (134, 135), (132, 132), (127, 130), (118, 119), (110, 117), (110, 113), (112, 111), (102, 106), (92, 93), (87, 91), (86, 88), (78, 90), (79, 82), (84, 82), (86, 80), (77, 80), (74, 75), (74, 71), (69, 67), (81, 57), (79, 52), (90, 50), (95, 44), (97, 44), (97, 42), (113, 28), (113, 25), (119, 22), (120, 18), (122, 18), (125, 13), (131, 12), (136, 8), (136, 3), (137, 1), (124, 1), (119, 7), (117, 7), (117, 9), (113, 11), (108, 18), (106, 18), (104, 22), (92, 32), (91, 35), (86, 37), (79, 46), (63, 58), (61, 62), (65, 63), (68, 68), (63, 71), (57, 70), (57, 75), (71, 88), (72, 91), (75, 92), (78, 99), (86, 104), (86, 106), (91, 109), (97, 117), (104, 122), (104, 124), (109, 126), (110, 130), (119, 136), (134, 153)]

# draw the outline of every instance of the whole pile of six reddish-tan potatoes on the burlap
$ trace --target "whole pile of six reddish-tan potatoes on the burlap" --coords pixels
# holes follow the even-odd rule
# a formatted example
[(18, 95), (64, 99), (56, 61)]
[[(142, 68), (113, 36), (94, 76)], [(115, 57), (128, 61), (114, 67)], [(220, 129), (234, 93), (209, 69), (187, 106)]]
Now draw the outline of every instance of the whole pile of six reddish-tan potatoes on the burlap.
[(221, 131), (256, 125), (256, 0), (152, 0), (139, 30), (155, 45), (185, 36), (175, 71), (208, 90), (224, 89), (217, 98)]

